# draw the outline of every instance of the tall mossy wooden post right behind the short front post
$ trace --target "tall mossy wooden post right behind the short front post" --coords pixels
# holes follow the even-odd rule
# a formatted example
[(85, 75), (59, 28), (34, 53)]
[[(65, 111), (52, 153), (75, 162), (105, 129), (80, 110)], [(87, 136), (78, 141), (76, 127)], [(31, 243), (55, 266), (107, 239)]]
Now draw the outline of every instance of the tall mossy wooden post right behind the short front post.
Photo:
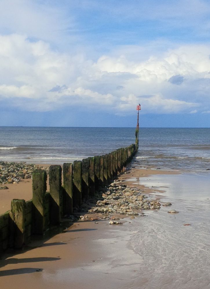
[(45, 170), (34, 170), (32, 174), (33, 210), (32, 210), (32, 232), (34, 234), (44, 233), (44, 205), (47, 189), (47, 173)]

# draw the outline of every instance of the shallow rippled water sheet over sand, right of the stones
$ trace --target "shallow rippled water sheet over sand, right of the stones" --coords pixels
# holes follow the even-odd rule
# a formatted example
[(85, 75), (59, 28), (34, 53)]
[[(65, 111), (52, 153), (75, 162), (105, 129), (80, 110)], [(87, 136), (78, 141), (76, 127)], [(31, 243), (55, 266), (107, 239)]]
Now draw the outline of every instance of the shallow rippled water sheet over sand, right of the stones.
[[(148, 217), (136, 218), (128, 227), (136, 231), (129, 246), (144, 260), (129, 288), (209, 289), (209, 174), (153, 175), (140, 178), (139, 183), (163, 186), (165, 193), (156, 195), (172, 206), (145, 211)], [(172, 209), (179, 213), (167, 213)], [(184, 226), (187, 223), (191, 226)], [(146, 284), (140, 286), (142, 280)]]

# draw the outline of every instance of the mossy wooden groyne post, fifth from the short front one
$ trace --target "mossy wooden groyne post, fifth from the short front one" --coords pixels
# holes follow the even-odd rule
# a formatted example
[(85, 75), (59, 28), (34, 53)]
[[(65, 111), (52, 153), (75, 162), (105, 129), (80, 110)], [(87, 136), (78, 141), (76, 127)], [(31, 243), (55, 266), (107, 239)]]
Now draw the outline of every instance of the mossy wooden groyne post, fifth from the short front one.
[(73, 208), (82, 204), (82, 162), (73, 163)]

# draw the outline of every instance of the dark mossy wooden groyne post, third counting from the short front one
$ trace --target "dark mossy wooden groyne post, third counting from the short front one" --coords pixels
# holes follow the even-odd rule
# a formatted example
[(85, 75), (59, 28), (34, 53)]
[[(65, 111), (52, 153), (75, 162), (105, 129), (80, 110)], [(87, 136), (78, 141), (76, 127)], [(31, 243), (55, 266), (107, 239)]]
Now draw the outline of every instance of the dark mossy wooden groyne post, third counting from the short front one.
[(62, 211), (62, 169), (60, 165), (51, 165), (49, 168), (50, 185), (50, 224), (59, 225)]

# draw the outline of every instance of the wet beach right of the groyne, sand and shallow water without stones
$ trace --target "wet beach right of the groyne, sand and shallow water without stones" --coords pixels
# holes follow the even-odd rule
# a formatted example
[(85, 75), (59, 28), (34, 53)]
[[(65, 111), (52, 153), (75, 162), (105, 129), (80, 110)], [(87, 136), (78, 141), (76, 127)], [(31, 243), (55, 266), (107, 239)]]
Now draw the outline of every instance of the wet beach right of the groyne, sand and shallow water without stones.
[[(209, 288), (209, 181), (202, 184), (208, 172), (131, 168), (121, 184), (172, 206), (143, 210), (144, 217), (123, 218), (121, 226), (78, 221), (8, 252), (0, 262), (1, 288)], [(175, 192), (174, 183), (181, 187)]]

